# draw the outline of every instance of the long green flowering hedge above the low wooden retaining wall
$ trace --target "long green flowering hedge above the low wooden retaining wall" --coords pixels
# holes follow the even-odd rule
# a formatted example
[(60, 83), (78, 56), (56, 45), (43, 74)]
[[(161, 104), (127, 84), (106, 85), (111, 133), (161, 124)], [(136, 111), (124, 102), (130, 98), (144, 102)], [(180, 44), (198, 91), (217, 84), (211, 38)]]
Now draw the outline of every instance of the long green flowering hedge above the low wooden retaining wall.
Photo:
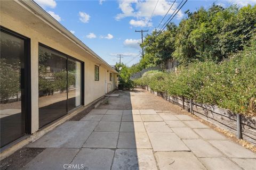
[(256, 44), (216, 64), (211, 61), (181, 66), (176, 73), (150, 71), (134, 80), (152, 90), (217, 105), (234, 113), (256, 115)]

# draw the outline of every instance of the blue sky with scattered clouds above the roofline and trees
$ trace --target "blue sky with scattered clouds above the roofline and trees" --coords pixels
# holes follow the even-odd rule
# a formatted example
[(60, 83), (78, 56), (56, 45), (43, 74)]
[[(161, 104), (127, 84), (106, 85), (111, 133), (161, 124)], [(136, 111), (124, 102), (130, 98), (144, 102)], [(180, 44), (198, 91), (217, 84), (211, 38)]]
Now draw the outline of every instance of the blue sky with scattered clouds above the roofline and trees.
[[(134, 31), (143, 29), (149, 30), (148, 33), (150, 33), (154, 30), (169, 10), (174, 0), (159, 0), (158, 2), (157, 0), (35, 0), (35, 2), (110, 65), (119, 62), (117, 54), (124, 54), (122, 62), (131, 66), (139, 62), (139, 54), (141, 52), (139, 47), (141, 34)], [(176, 1), (173, 4), (165, 20), (171, 16), (180, 3), (181, 1)], [(193, 12), (201, 6), (209, 8), (213, 3), (220, 4), (223, 7), (227, 7), (231, 4), (244, 6), (248, 3), (252, 5), (256, 4), (256, 0), (188, 0), (172, 21), (175, 24), (179, 24), (182, 18), (186, 18), (186, 14), (184, 13), (186, 10)]]

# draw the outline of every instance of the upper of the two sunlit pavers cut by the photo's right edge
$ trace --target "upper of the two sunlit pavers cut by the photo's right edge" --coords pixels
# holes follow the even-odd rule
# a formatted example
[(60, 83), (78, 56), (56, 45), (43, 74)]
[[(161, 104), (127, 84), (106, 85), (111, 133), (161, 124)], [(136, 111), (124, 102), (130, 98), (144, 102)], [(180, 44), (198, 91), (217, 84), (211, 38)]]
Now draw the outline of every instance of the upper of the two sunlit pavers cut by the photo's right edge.
[(233, 141), (212, 140), (209, 142), (230, 158), (256, 158), (256, 154), (251, 150), (237, 145)]

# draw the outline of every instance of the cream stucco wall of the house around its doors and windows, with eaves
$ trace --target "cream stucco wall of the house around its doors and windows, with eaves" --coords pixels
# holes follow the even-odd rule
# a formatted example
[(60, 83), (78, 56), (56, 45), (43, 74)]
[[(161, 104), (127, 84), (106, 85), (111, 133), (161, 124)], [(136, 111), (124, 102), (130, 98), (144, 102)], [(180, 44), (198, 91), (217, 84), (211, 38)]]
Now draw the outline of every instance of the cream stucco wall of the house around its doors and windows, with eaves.
[[(112, 83), (115, 88), (115, 77), (109, 81), (108, 66), (97, 61), (97, 58), (86, 53), (74, 42), (71, 42), (51, 25), (42, 22), (37, 16), (15, 2), (1, 2), (0, 24), (14, 32), (30, 38), (31, 41), (31, 132), (38, 130), (38, 43), (59, 50), (69, 56), (84, 62), (84, 101), (85, 105), (105, 95), (106, 83)], [(94, 65), (99, 67), (99, 81), (94, 81)], [(106, 78), (107, 72), (107, 78)], [(105, 80), (106, 83), (105, 83)]]

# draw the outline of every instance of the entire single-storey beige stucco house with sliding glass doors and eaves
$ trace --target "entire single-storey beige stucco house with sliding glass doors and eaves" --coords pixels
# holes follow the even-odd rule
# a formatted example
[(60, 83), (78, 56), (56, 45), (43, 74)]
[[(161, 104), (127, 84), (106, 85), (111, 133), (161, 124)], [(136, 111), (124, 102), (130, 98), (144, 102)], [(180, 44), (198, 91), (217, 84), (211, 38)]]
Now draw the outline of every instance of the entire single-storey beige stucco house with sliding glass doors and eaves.
[(35, 2), (1, 1), (0, 24), (2, 149), (117, 87), (118, 72)]

